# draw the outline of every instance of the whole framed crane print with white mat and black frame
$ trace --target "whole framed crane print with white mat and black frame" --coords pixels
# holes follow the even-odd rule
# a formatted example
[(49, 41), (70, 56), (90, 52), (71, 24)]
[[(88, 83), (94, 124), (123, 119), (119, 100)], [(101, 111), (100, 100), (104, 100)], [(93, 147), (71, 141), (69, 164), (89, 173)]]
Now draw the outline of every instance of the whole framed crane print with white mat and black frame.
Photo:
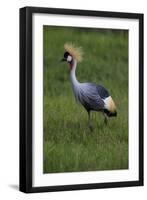
[(143, 14), (20, 9), (20, 191), (143, 185)]

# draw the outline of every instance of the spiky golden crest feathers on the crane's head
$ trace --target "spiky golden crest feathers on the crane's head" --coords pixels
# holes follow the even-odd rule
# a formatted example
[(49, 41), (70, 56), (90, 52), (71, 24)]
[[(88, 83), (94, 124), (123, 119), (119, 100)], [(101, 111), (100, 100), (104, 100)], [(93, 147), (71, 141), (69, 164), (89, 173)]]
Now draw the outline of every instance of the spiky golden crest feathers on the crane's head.
[(65, 43), (64, 49), (73, 56), (77, 62), (82, 62), (83, 60), (83, 50), (82, 47), (76, 47), (73, 43)]

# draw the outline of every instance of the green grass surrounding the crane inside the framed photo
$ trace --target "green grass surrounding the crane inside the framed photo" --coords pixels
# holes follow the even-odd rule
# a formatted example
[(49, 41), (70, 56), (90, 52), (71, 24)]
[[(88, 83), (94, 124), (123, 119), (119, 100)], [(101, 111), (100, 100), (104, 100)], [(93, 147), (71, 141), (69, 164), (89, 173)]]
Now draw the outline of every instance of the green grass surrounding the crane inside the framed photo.
[[(60, 63), (65, 42), (84, 50), (77, 66), (80, 82), (104, 85), (118, 108), (117, 118), (104, 125), (75, 102), (69, 69)], [(44, 173), (128, 168), (128, 32), (44, 27)]]

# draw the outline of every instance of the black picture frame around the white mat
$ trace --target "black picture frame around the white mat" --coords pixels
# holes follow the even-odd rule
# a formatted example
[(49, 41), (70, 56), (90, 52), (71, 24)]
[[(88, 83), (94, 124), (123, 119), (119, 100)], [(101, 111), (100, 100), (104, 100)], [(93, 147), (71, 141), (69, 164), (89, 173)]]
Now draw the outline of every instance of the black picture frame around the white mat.
[[(32, 16), (34, 13), (137, 19), (139, 21), (139, 180), (63, 186), (32, 186)], [(143, 185), (143, 14), (24, 7), (20, 9), (20, 191), (26, 193)]]

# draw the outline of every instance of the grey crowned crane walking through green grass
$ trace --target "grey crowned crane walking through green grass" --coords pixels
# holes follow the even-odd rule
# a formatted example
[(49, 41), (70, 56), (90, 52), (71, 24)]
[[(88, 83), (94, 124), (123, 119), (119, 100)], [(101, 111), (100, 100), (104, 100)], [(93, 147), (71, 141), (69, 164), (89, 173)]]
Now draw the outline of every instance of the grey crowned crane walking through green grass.
[(66, 61), (70, 68), (70, 80), (75, 98), (88, 112), (88, 124), (92, 131), (90, 111), (99, 111), (104, 115), (107, 124), (108, 117), (117, 116), (115, 103), (109, 92), (101, 85), (94, 83), (80, 83), (76, 78), (77, 63), (82, 61), (83, 51), (81, 47), (75, 47), (72, 43), (64, 45), (65, 53), (62, 61)]

